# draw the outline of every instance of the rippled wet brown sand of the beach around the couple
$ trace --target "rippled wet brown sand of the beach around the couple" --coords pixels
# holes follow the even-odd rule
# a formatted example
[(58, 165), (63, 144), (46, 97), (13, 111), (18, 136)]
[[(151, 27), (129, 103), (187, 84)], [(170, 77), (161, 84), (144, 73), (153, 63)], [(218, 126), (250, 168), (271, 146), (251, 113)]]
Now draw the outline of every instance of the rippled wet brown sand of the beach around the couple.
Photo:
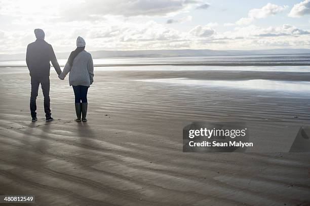
[(31, 122), (27, 71), (0, 74), (0, 194), (33, 194), (35, 205), (310, 203), (310, 153), (182, 153), (182, 122), (193, 120), (245, 121), (250, 136), (286, 150), (283, 138), (310, 125), (310, 95), (136, 81), (308, 73), (95, 71), (88, 122), (73, 121), (68, 79), (51, 73), (55, 120), (44, 121), (40, 89)]

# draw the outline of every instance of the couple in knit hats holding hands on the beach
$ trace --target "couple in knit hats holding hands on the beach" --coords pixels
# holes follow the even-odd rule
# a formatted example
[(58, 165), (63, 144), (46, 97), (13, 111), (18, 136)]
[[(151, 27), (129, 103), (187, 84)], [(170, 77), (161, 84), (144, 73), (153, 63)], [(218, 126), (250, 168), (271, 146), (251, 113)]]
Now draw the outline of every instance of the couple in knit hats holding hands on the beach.
[(36, 40), (28, 45), (26, 53), (26, 63), (31, 77), (30, 112), (32, 121), (37, 120), (36, 97), (40, 84), (44, 96), (46, 121), (53, 120), (50, 109), (50, 61), (60, 79), (63, 80), (70, 72), (69, 85), (73, 87), (75, 96), (75, 121), (87, 121), (87, 91), (94, 81), (94, 65), (91, 54), (84, 50), (85, 40), (80, 36), (76, 39), (76, 49), (71, 52), (63, 71), (61, 71), (53, 47), (44, 40), (44, 31), (34, 29), (34, 34)]

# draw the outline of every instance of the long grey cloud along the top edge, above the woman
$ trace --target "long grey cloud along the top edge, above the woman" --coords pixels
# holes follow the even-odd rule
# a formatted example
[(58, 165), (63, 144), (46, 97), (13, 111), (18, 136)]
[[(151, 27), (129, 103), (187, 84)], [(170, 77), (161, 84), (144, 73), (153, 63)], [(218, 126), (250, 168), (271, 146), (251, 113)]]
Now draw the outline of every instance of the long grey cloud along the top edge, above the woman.
[[(90, 0), (74, 2), (61, 12), (61, 16), (67, 20), (74, 18), (102, 17), (104, 15), (132, 16), (165, 16), (186, 11), (192, 6), (197, 6), (200, 1), (188, 0), (114, 0), (102, 1)], [(79, 14), (79, 15), (76, 15)]]

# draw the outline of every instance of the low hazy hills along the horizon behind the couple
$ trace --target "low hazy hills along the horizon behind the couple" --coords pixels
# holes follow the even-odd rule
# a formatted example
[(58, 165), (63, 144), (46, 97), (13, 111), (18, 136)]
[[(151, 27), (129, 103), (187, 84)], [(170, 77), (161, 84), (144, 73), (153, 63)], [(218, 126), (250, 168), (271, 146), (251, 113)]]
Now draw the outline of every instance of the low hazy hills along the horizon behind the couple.
[[(58, 59), (67, 59), (70, 52), (56, 53)], [(310, 49), (270, 49), (270, 50), (134, 50), (134, 51), (92, 51), (94, 59), (126, 57), (194, 57), (225, 55), (271, 55), (310, 54)], [(0, 61), (24, 60), (25, 54), (0, 54)]]

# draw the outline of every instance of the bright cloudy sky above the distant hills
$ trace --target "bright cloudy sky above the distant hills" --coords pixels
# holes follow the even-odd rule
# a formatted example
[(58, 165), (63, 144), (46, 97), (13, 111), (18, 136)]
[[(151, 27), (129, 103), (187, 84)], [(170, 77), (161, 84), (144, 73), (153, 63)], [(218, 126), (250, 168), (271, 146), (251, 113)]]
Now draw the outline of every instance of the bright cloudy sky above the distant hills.
[(42, 28), (55, 52), (310, 49), (310, 0), (0, 0), (0, 54), (25, 53)]

